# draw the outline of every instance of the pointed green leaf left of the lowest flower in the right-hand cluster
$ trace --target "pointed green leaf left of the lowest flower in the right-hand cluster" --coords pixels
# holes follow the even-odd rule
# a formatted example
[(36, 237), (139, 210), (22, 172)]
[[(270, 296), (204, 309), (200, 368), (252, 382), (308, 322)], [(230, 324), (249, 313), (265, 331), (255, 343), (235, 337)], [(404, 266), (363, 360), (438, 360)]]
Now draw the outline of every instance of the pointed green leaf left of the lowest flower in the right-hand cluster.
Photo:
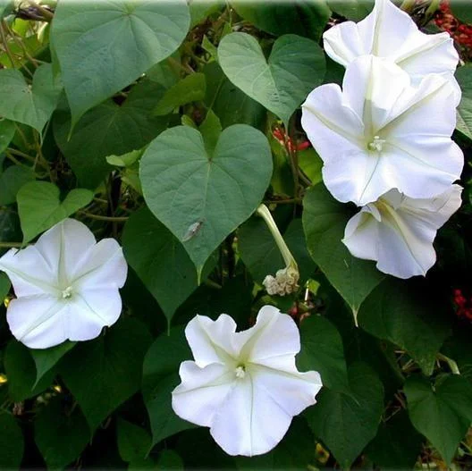
[(364, 299), (384, 279), (384, 273), (377, 271), (373, 262), (352, 257), (341, 242), (352, 214), (349, 206), (336, 201), (323, 184), (308, 190), (303, 208), (308, 251), (356, 317)]

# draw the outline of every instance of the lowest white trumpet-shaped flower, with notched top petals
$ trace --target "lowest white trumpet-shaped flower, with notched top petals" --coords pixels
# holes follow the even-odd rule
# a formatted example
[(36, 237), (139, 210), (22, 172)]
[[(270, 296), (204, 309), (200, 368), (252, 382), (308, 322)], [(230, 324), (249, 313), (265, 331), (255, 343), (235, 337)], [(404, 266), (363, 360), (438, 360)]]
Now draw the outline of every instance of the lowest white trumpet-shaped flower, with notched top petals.
[(320, 375), (297, 370), (299, 330), (277, 308), (262, 307), (257, 323), (243, 332), (236, 332), (229, 315), (216, 321), (197, 315), (185, 335), (195, 361), (181, 364), (173, 410), (210, 427), (226, 453), (253, 456), (272, 450), (292, 417), (316, 403)]

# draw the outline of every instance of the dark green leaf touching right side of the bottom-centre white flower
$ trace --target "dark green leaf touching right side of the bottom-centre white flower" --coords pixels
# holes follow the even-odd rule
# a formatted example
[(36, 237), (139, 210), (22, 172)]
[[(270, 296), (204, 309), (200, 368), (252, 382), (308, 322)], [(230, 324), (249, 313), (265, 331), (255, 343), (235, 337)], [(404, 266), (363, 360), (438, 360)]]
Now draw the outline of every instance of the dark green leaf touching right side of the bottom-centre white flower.
[(299, 369), (315, 370), (321, 374), (321, 381), (328, 389), (347, 392), (348, 369), (336, 327), (324, 317), (310, 315), (300, 324), (300, 343)]

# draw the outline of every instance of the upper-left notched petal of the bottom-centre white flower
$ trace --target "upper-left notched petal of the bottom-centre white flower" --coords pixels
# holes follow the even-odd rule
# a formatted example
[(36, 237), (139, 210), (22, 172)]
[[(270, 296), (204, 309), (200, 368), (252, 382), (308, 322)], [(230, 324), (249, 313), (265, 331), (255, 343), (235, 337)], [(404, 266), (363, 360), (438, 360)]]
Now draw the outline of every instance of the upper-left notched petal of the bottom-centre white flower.
[(234, 363), (237, 351), (232, 345), (236, 323), (226, 314), (213, 321), (206, 315), (196, 315), (185, 328), (195, 362), (200, 367), (211, 363)]

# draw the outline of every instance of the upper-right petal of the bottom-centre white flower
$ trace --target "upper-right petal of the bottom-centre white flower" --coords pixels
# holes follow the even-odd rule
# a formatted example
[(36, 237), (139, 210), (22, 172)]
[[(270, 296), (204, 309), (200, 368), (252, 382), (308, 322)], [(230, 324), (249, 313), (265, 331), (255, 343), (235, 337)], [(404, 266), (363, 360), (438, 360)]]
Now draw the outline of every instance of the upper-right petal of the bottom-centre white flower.
[(258, 363), (287, 354), (293, 357), (300, 349), (299, 329), (290, 315), (282, 314), (274, 306), (264, 306), (253, 327), (236, 333), (236, 343), (244, 362)]

